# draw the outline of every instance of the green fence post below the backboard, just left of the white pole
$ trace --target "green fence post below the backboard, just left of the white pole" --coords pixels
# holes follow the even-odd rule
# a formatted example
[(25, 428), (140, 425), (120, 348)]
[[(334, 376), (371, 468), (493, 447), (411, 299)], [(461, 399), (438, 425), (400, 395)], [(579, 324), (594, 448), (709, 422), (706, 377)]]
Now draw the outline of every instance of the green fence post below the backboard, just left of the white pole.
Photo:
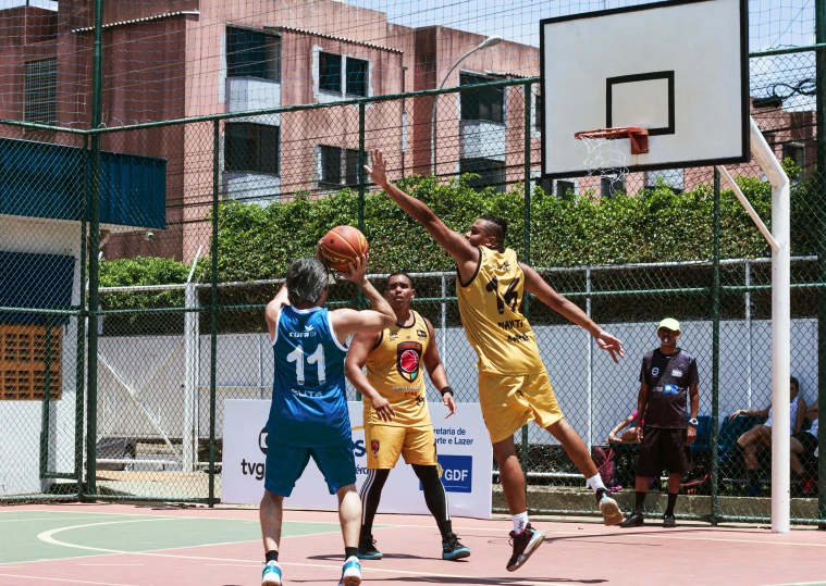
[(712, 276), (712, 511), (711, 523), (717, 524), (719, 518), (719, 498), (717, 482), (717, 452), (719, 448), (719, 171), (714, 169), (714, 270)]

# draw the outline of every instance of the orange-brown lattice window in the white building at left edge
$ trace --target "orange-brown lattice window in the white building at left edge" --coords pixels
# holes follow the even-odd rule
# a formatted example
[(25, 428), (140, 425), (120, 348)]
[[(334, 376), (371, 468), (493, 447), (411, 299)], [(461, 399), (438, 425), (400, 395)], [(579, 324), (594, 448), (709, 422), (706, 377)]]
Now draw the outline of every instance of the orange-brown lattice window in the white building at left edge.
[[(0, 328), (0, 400), (42, 401), (46, 398), (47, 339), (44, 325)], [(49, 399), (61, 398), (62, 331), (52, 326), (48, 344)]]

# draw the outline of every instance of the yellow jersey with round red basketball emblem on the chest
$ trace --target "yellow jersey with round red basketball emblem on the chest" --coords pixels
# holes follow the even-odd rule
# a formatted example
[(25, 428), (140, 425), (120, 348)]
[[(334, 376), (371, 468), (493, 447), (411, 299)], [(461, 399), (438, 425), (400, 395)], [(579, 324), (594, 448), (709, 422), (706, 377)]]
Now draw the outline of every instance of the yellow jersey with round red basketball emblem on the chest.
[(390, 401), (396, 416), (382, 421), (365, 397), (365, 425), (380, 424), (397, 427), (430, 426), (428, 394), (424, 386), (424, 352), (430, 344), (430, 331), (424, 317), (416, 311), (409, 326), (398, 324), (383, 329), (375, 347), (367, 354), (367, 381)]

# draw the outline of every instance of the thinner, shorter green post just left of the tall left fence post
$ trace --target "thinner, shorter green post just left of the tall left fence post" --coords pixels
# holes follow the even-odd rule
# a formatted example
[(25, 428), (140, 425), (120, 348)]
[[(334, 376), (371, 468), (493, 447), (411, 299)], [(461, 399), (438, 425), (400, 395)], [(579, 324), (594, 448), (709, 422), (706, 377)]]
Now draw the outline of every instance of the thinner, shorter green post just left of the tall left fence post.
[(84, 377), (86, 375), (86, 214), (89, 201), (89, 137), (83, 137), (83, 192), (81, 194), (81, 299), (77, 312), (77, 349), (75, 361), (75, 477), (77, 478), (77, 500), (83, 499), (83, 427), (84, 427)]

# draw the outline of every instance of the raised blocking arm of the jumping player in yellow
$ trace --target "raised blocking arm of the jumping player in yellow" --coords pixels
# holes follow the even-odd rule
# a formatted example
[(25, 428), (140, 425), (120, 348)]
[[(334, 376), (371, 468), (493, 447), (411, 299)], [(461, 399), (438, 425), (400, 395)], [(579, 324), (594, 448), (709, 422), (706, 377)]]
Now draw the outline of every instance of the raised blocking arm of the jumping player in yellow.
[(476, 270), (479, 262), (479, 250), (472, 247), (465, 236), (445, 226), (444, 222), (426, 203), (411, 198), (387, 180), (386, 162), (379, 149), (370, 151), (370, 166), (365, 165), (365, 171), (370, 174), (372, 182), (384, 189), (390, 199), (405, 213), (424, 226), (424, 229), (435, 238), (436, 242), (456, 260), (459, 269), (467, 265), (469, 273)]

